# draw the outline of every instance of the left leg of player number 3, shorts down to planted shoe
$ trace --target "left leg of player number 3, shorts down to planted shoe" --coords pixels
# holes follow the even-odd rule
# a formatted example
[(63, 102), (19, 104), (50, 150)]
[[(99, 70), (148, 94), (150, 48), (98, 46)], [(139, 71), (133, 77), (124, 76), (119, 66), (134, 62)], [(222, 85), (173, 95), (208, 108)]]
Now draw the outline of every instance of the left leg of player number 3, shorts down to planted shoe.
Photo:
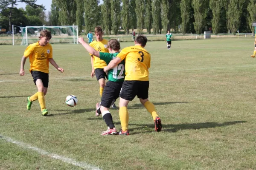
[(134, 99), (137, 94), (137, 81), (124, 81), (120, 91), (119, 100), (119, 117), (122, 130), (119, 135), (129, 135), (128, 122), (129, 113), (127, 110), (128, 103)]

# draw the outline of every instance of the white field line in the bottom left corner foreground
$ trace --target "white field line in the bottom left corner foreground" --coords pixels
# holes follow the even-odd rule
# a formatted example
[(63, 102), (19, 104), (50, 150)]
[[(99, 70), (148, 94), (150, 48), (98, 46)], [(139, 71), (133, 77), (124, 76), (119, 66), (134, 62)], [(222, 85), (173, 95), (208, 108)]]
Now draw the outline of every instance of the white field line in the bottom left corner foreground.
[(92, 166), (90, 164), (87, 164), (85, 162), (78, 162), (74, 159), (70, 159), (70, 158), (60, 156), (60, 155), (57, 155), (57, 154), (54, 154), (54, 153), (49, 153), (49, 152), (47, 152), (45, 150), (42, 150), (38, 147), (33, 147), (33, 146), (30, 146), (29, 144), (25, 144), (23, 142), (15, 141), (14, 139), (11, 139), (9, 137), (4, 137), (1, 134), (0, 134), (0, 139), (4, 139), (7, 142), (17, 144), (18, 146), (23, 147), (25, 149), (30, 149), (30, 150), (36, 151), (37, 153), (39, 153), (41, 155), (46, 155), (46, 156), (49, 156), (50, 158), (58, 159), (58, 160), (61, 160), (63, 162), (66, 162), (68, 164), (73, 164), (77, 167), (82, 167), (86, 170), (101, 170), (101, 169), (99, 169), (99, 167), (94, 167), (94, 166)]

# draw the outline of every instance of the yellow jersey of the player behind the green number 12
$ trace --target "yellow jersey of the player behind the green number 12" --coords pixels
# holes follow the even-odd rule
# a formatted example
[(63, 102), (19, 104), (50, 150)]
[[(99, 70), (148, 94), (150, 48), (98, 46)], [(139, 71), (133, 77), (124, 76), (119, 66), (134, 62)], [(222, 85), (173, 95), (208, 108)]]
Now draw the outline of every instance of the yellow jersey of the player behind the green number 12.
[[(108, 53), (108, 48), (107, 47), (108, 40), (103, 39), (102, 41), (96, 41), (94, 40), (93, 42), (90, 43), (90, 46), (93, 47), (96, 51), (99, 52), (104, 52)], [(92, 54), (90, 56), (93, 57), (93, 68), (104, 68), (107, 66), (106, 62), (102, 59), (99, 59), (99, 57), (95, 57)]]

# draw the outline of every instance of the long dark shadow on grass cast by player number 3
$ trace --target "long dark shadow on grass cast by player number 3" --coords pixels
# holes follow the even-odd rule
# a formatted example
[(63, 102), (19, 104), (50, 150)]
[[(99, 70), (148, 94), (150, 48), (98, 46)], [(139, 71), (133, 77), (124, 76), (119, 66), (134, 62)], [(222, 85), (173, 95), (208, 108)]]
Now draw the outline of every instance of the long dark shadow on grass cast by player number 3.
[[(214, 128), (214, 127), (222, 127), (222, 126), (230, 126), (230, 125), (236, 125), (238, 123), (246, 123), (247, 121), (241, 120), (241, 121), (233, 121), (233, 122), (223, 122), (223, 123), (217, 123), (217, 122), (203, 122), (203, 123), (184, 123), (184, 124), (162, 124), (164, 132), (177, 132), (179, 130), (188, 130), (188, 129), (208, 129), (208, 128)], [(116, 122), (115, 125), (120, 125), (120, 122)], [(154, 130), (154, 124), (129, 124), (129, 125), (136, 125), (138, 127), (135, 128), (129, 128), (130, 131), (134, 130), (143, 130), (143, 128), (151, 128), (152, 130), (146, 130), (144, 132), (135, 132), (133, 134), (137, 133), (149, 133)]]

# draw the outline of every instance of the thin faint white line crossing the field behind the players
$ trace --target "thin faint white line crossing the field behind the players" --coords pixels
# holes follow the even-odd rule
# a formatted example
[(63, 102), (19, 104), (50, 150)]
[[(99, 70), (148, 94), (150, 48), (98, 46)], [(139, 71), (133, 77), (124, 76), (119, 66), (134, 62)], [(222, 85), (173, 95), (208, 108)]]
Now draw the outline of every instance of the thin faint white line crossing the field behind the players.
[[(210, 70), (210, 69), (221, 69), (221, 68), (239, 68), (239, 67), (252, 67), (254, 65), (240, 65), (240, 66), (230, 66), (230, 67), (210, 67), (210, 68), (191, 68), (191, 69), (180, 69), (180, 70), (166, 70), (166, 71), (149, 71), (149, 73), (163, 73), (163, 72), (172, 72), (172, 71), (189, 71), (189, 70)], [(50, 80), (55, 79), (80, 79), (80, 78), (87, 78), (90, 76), (83, 76), (83, 77), (61, 77), (61, 78), (52, 78)], [(20, 82), (20, 81), (32, 81), (33, 79), (25, 79), (25, 80), (0, 80), (0, 82)]]

